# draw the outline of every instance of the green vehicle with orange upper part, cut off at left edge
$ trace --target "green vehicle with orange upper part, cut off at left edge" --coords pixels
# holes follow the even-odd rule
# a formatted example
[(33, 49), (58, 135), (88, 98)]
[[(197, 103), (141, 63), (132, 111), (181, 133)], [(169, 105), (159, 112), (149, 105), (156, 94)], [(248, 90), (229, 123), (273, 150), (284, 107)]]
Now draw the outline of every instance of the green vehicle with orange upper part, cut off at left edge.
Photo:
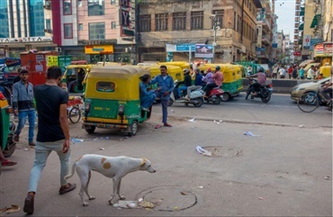
[(14, 122), (10, 122), (10, 113), (13, 113), (13, 108), (9, 106), (4, 94), (0, 91), (0, 147), (4, 158), (13, 155), (16, 149), (16, 142), (13, 140), (16, 126)]

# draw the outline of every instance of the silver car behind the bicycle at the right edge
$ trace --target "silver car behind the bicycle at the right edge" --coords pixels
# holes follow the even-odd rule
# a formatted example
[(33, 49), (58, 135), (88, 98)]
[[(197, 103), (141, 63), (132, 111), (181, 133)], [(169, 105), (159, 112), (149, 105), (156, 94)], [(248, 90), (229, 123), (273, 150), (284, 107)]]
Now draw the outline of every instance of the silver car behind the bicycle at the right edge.
[(318, 87), (324, 85), (326, 82), (329, 82), (329, 77), (294, 86), (291, 97), (293, 100), (298, 100), (305, 93), (317, 93)]

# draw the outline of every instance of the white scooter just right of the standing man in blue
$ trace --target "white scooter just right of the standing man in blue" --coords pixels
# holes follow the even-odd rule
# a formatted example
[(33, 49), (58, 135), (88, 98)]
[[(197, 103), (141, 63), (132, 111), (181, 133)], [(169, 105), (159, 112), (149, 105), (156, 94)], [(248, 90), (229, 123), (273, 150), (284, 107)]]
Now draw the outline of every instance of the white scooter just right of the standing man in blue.
[(177, 102), (177, 103), (183, 103), (186, 106), (188, 104), (193, 104), (194, 107), (201, 107), (202, 104), (203, 104), (203, 101), (204, 101), (203, 95), (204, 95), (204, 92), (202, 90), (202, 87), (198, 87), (197, 89), (195, 89), (191, 92), (191, 98), (189, 100), (184, 99), (185, 95), (181, 95), (181, 97), (178, 97), (177, 99), (175, 99), (175, 96), (178, 96), (178, 94), (177, 94), (177, 82), (175, 81), (175, 89), (171, 93), (170, 99), (169, 99), (167, 105), (171, 106), (172, 104), (174, 104), (174, 102)]

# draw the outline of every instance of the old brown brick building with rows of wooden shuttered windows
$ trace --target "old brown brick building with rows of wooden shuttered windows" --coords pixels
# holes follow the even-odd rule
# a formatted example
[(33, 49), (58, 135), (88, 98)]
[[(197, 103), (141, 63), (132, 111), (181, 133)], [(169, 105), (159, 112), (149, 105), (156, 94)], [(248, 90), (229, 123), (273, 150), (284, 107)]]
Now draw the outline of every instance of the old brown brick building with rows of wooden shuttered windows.
[(215, 62), (256, 59), (257, 8), (259, 0), (141, 1), (140, 60), (188, 60), (195, 44), (216, 45)]

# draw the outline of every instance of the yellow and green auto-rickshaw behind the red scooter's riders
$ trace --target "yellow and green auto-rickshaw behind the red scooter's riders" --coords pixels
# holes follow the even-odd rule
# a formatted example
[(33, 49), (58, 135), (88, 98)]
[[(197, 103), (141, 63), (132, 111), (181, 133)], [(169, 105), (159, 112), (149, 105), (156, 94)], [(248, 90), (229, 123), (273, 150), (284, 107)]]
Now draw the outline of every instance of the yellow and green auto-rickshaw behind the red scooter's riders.
[(224, 91), (222, 96), (222, 101), (227, 102), (232, 99), (234, 96), (238, 95), (239, 92), (243, 89), (242, 85), (242, 71), (243, 67), (240, 65), (232, 64), (212, 64), (207, 63), (198, 68), (201, 71), (206, 71), (208, 68), (211, 68), (212, 72), (215, 72), (215, 68), (219, 66), (220, 72), (223, 74), (223, 84), (221, 89)]

